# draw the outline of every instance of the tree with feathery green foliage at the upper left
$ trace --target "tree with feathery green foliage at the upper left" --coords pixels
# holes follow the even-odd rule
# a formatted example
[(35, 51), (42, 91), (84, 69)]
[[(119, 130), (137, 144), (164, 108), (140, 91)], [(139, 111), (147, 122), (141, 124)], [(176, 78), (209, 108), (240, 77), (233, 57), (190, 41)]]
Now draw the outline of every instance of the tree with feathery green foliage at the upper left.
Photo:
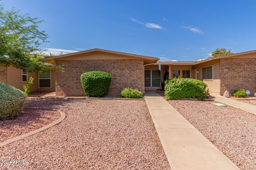
[(37, 18), (20, 11), (4, 10), (0, 4), (0, 64), (13, 65), (28, 72), (40, 71), (46, 62), (41, 45), (47, 34), (38, 28)]

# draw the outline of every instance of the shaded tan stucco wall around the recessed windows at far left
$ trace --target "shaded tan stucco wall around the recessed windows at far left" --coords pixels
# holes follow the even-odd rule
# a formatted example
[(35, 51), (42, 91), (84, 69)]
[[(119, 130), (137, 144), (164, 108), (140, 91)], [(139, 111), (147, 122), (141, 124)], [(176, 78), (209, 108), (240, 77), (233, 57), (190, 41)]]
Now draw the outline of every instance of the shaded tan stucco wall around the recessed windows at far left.
[[(38, 73), (28, 72), (28, 80), (30, 77), (34, 78), (33, 84), (31, 86), (31, 92), (39, 92), (39, 91), (55, 91), (55, 70), (51, 71), (51, 88), (38, 88)], [(23, 84), (22, 82), (22, 74), (21, 69), (17, 69), (13, 66), (7, 67), (7, 84), (18, 88), (23, 91)]]

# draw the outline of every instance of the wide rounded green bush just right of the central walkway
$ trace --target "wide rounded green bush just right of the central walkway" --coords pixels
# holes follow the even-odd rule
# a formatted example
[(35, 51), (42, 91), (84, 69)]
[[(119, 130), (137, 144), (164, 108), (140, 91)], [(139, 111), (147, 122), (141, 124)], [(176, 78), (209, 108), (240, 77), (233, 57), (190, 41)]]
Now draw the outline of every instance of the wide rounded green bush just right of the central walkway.
[(167, 99), (177, 100), (181, 98), (205, 98), (207, 84), (196, 79), (174, 78), (165, 81), (164, 95)]

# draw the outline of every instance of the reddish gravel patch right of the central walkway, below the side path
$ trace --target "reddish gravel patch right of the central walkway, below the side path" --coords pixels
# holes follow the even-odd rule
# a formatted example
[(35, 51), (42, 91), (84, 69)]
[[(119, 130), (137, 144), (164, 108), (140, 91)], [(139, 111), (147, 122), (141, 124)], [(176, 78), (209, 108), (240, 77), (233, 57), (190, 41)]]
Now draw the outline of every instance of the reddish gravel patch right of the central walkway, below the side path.
[(241, 169), (256, 169), (256, 116), (214, 101), (168, 100)]

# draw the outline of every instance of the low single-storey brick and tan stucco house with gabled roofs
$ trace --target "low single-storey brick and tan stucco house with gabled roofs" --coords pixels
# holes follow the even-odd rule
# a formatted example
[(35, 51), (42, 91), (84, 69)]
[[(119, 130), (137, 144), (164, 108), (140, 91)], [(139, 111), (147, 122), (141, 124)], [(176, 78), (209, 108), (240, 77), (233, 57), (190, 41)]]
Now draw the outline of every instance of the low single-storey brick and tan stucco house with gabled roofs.
[[(101, 70), (111, 73), (109, 96), (118, 96), (123, 88), (145, 90), (161, 89), (164, 74), (169, 78), (194, 78), (204, 81), (210, 92), (221, 94), (244, 88), (256, 92), (256, 50), (202, 61), (161, 62), (158, 58), (103, 49), (48, 57), (52, 64), (61, 65), (65, 72), (48, 70), (27, 73), (12, 66), (0, 65), (0, 82), (22, 89), (29, 77), (34, 77), (32, 91), (56, 91), (56, 95), (81, 96), (80, 76), (83, 72)], [(167, 73), (166, 73), (167, 72)]]

